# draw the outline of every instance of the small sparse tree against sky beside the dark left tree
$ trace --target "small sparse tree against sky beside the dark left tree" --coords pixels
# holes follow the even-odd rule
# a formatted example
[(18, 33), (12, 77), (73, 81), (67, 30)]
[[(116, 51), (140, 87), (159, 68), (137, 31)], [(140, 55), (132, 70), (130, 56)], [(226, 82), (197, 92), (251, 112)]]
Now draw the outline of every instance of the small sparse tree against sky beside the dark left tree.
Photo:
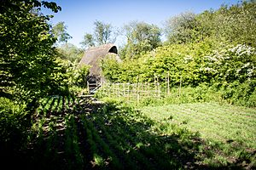
[(52, 32), (54, 37), (57, 39), (57, 42), (65, 42), (71, 39), (72, 37), (67, 33), (67, 26), (64, 25), (64, 22), (59, 22), (52, 27)]

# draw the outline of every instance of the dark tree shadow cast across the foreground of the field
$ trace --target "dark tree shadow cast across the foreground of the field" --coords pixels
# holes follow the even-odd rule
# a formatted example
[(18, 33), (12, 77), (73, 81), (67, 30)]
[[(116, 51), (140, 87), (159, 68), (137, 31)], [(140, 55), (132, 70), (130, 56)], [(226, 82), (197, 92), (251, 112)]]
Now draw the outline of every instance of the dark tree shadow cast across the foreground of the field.
[(65, 126), (58, 127), (61, 122), (56, 121), (50, 132), (34, 138), (25, 149), (13, 150), (6, 157), (2, 153), (4, 165), (9, 169), (243, 168), (203, 164), (198, 155), (200, 148), (207, 147), (198, 133), (155, 122), (116, 103), (81, 101), (75, 109), (62, 113), (60, 120)]

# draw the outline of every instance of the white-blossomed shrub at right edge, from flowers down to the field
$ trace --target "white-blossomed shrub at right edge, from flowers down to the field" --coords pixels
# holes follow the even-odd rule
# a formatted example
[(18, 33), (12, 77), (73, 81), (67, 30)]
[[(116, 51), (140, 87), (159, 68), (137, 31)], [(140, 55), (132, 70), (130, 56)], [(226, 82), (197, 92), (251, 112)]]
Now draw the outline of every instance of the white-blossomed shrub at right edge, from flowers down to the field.
[(218, 86), (222, 99), (231, 104), (255, 106), (256, 50), (238, 44), (205, 56), (207, 67), (214, 77), (212, 83)]

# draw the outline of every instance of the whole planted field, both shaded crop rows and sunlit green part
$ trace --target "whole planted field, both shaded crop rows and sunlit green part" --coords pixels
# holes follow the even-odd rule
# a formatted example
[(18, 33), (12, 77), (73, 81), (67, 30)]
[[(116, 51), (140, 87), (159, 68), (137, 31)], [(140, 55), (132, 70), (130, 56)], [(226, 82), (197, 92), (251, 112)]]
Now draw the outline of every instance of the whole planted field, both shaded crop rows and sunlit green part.
[(4, 159), (26, 169), (253, 169), (255, 119), (255, 109), (216, 103), (136, 108), (53, 96), (26, 145)]

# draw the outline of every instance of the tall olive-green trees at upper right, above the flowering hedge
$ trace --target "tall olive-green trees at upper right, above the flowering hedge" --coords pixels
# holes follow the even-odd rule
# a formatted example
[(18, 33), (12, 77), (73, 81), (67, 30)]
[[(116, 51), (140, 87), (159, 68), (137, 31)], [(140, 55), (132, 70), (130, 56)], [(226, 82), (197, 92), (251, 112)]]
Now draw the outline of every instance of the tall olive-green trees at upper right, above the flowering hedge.
[(212, 37), (218, 42), (255, 47), (255, 10), (255, 1), (243, 1), (201, 14), (179, 14), (166, 21), (167, 42), (201, 42)]

